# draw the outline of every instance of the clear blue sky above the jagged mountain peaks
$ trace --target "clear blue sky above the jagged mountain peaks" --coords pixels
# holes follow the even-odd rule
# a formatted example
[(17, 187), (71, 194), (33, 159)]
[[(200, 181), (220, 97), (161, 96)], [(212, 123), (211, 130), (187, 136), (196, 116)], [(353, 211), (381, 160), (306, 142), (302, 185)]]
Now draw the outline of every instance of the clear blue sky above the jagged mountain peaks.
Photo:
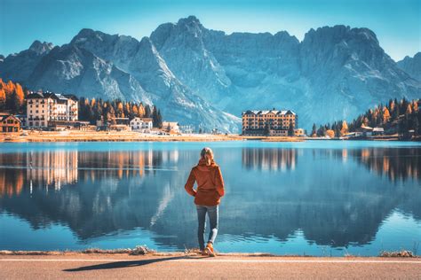
[(369, 27), (395, 60), (421, 51), (421, 0), (0, 0), (0, 54), (36, 39), (68, 43), (83, 27), (140, 39), (189, 15), (228, 34), (286, 30), (299, 40), (312, 27)]

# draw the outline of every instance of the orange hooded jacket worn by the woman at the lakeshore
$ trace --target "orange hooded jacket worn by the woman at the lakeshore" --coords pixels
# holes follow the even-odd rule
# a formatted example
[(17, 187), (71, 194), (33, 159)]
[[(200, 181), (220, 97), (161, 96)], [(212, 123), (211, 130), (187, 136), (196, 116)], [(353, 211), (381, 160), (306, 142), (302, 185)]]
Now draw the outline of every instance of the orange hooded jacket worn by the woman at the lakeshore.
[[(197, 190), (193, 188), (195, 182)], [(192, 168), (184, 188), (195, 197), (195, 204), (199, 206), (217, 206), (225, 194), (221, 170), (213, 160), (207, 166), (206, 160), (200, 159), (197, 166)]]

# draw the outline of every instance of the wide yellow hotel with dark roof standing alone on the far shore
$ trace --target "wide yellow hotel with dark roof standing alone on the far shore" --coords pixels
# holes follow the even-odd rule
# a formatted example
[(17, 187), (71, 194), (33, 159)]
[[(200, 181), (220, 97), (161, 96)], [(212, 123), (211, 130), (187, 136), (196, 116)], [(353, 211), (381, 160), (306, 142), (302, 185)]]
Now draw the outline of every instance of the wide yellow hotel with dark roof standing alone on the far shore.
[(298, 115), (290, 110), (242, 112), (242, 135), (288, 136), (290, 126), (298, 128)]

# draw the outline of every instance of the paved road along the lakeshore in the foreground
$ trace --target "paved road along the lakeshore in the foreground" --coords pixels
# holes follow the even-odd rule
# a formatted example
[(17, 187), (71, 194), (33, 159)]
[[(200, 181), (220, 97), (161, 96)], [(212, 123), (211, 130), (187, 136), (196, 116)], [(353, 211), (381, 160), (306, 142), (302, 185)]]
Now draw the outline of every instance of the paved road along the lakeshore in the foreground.
[(0, 256), (0, 279), (421, 279), (421, 259), (218, 256)]

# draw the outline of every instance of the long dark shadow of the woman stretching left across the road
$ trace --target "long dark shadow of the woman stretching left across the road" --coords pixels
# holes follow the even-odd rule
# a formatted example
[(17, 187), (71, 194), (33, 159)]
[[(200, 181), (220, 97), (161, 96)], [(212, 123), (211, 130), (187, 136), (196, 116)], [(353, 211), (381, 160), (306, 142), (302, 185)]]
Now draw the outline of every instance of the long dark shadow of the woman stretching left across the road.
[(147, 264), (160, 262), (160, 261), (173, 261), (173, 260), (181, 260), (181, 259), (205, 259), (205, 258), (208, 258), (208, 257), (180, 256), (180, 257), (159, 258), (159, 259), (149, 259), (149, 260), (139, 260), (139, 261), (114, 261), (114, 262), (101, 263), (101, 264), (96, 264), (92, 266), (80, 267), (80, 268), (68, 268), (68, 269), (64, 269), (63, 271), (75, 272), (75, 271), (97, 270), (97, 269), (131, 268), (131, 267), (145, 266)]

